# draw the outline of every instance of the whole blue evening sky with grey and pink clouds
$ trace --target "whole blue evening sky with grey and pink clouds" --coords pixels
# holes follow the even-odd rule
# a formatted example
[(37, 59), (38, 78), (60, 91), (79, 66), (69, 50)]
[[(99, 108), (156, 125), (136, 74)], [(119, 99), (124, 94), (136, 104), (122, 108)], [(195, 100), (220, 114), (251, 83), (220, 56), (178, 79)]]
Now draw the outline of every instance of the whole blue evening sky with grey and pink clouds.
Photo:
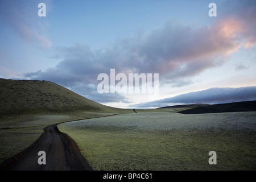
[[(0, 33), (1, 78), (52, 81), (104, 105), (256, 100), (256, 1), (0, 0)], [(135, 73), (146, 81), (129, 85)], [(145, 85), (154, 92), (117, 92)]]

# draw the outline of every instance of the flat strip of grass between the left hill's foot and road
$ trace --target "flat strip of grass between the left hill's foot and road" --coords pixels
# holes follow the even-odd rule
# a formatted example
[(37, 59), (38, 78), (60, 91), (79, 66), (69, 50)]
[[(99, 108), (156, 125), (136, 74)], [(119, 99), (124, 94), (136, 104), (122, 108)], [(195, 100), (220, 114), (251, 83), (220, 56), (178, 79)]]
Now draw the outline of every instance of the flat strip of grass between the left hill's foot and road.
[(19, 115), (0, 122), (0, 163), (34, 143), (46, 126), (73, 119), (101, 117), (113, 113), (75, 113), (73, 115)]

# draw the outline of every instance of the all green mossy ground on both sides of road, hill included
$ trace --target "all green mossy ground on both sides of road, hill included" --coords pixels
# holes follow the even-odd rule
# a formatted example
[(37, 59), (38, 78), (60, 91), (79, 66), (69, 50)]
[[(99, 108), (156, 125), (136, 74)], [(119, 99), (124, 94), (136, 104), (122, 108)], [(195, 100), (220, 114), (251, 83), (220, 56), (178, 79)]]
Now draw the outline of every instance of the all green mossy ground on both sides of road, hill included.
[[(58, 127), (77, 142), (94, 170), (256, 169), (255, 111), (178, 114), (195, 107), (184, 105), (135, 113), (49, 81), (0, 78), (0, 88), (0, 163), (34, 143), (46, 126), (120, 114)], [(212, 150), (215, 166), (208, 164)]]

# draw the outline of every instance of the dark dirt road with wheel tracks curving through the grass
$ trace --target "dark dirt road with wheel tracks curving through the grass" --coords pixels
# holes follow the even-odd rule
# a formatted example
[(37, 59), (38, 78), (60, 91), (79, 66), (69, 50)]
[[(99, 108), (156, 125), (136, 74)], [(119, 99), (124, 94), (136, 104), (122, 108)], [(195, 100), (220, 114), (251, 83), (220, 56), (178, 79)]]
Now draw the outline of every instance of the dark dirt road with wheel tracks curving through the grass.
[[(44, 133), (31, 150), (11, 165), (14, 171), (81, 171), (92, 170), (81, 156), (76, 143), (57, 129), (57, 125), (44, 128)], [(46, 164), (39, 164), (39, 151), (46, 152)], [(9, 166), (10, 167), (10, 166)]]

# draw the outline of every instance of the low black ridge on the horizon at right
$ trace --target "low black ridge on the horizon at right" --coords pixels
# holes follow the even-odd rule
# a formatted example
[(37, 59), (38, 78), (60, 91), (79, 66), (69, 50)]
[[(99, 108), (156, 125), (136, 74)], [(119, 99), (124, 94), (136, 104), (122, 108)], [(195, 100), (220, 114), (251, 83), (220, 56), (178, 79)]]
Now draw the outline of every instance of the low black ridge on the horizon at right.
[(196, 106), (193, 109), (179, 111), (181, 114), (227, 113), (256, 111), (256, 101), (232, 102), (227, 104), (213, 104)]

